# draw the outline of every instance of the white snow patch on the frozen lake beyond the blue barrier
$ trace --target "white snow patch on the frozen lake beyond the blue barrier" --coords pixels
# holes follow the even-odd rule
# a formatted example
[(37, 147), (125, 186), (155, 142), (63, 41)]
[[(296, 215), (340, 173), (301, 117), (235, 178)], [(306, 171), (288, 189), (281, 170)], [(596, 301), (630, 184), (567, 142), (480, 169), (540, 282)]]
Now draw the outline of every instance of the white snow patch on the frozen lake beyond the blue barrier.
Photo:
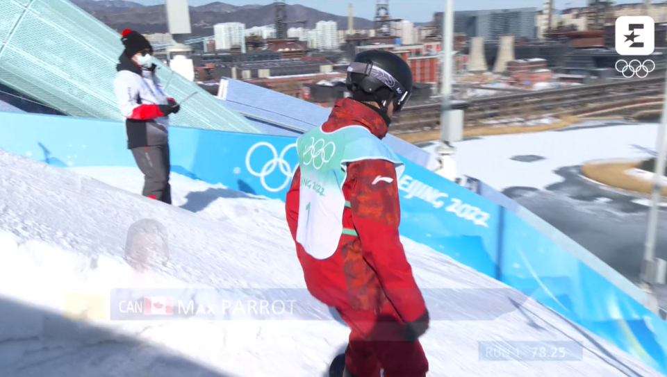
[[(456, 165), (459, 174), (479, 178), (496, 190), (545, 188), (563, 180), (556, 173), (559, 167), (604, 158), (648, 158), (654, 153), (656, 137), (657, 124), (603, 126), (602, 122), (557, 131), (479, 137), (456, 143)], [(519, 156), (541, 159), (522, 162)]]

